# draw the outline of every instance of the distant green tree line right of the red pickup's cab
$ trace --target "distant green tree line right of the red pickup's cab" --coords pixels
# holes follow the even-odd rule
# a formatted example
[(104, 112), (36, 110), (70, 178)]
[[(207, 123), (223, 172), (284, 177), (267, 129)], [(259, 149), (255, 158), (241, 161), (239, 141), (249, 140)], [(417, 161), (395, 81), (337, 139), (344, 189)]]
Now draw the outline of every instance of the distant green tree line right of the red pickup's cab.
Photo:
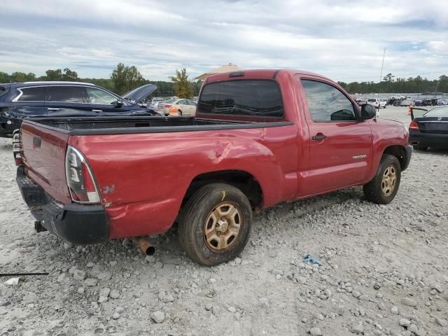
[(395, 78), (392, 73), (384, 76), (379, 83), (375, 82), (338, 82), (345, 90), (353, 93), (448, 93), (448, 76), (442, 75), (439, 79), (428, 80), (421, 76), (409, 78)]

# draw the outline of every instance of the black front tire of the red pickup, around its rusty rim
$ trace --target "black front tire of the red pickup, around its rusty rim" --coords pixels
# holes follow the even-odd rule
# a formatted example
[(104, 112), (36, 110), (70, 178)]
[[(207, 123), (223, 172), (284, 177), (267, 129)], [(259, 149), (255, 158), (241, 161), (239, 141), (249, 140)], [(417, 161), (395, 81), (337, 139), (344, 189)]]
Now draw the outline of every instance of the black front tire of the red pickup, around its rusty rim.
[[(393, 189), (389, 193), (385, 193), (384, 189), (388, 190), (388, 181), (384, 182), (386, 169), (390, 169), (390, 172), (395, 172), (395, 181), (393, 182)], [(377, 173), (372, 181), (366, 183), (363, 187), (364, 195), (370, 202), (377, 204), (389, 204), (398, 192), (401, 179), (401, 167), (398, 159), (390, 154), (384, 154), (381, 157)], [(384, 183), (384, 184), (383, 184)]]

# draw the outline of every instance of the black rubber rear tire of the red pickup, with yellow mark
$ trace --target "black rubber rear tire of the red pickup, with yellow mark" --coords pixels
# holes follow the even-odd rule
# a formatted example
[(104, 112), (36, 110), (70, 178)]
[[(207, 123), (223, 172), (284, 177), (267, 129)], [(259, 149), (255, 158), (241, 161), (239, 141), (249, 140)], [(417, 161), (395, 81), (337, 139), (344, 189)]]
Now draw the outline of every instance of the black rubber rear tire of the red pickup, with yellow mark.
[[(225, 242), (229, 244), (228, 247), (218, 249), (220, 246), (216, 246), (214, 249), (211, 244), (217, 241), (207, 242), (206, 230), (218, 230), (218, 221), (215, 223), (210, 216), (219, 207), (225, 208), (223, 204), (230, 204), (237, 209), (239, 231), (233, 239), (229, 239), (230, 242)], [(237, 216), (234, 216), (234, 223)], [(225, 183), (208, 184), (197, 190), (183, 207), (179, 219), (179, 243), (191, 259), (202, 265), (212, 266), (228, 262), (237, 257), (246, 246), (251, 233), (252, 218), (251, 204), (241, 190)], [(230, 226), (231, 224), (228, 225), (229, 228)], [(216, 235), (221, 233), (225, 234), (218, 232)]]

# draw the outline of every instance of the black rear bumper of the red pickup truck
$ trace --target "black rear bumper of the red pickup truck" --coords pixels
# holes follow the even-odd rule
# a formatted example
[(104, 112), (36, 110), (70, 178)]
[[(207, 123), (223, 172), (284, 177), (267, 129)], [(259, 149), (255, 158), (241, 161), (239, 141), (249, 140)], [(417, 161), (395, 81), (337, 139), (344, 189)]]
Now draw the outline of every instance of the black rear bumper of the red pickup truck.
[(18, 167), (16, 181), (31, 214), (52, 234), (78, 245), (109, 239), (109, 224), (102, 205), (56, 202), (24, 174), (23, 167)]

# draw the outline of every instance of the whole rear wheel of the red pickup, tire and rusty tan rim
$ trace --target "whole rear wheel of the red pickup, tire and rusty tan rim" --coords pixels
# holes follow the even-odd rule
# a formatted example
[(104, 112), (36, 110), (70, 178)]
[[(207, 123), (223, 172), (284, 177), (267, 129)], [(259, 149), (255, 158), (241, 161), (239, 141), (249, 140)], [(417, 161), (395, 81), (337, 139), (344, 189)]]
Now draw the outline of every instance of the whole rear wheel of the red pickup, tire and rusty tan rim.
[(218, 265), (243, 251), (251, 225), (246, 195), (228, 184), (211, 183), (186, 203), (179, 221), (179, 243), (196, 262)]

